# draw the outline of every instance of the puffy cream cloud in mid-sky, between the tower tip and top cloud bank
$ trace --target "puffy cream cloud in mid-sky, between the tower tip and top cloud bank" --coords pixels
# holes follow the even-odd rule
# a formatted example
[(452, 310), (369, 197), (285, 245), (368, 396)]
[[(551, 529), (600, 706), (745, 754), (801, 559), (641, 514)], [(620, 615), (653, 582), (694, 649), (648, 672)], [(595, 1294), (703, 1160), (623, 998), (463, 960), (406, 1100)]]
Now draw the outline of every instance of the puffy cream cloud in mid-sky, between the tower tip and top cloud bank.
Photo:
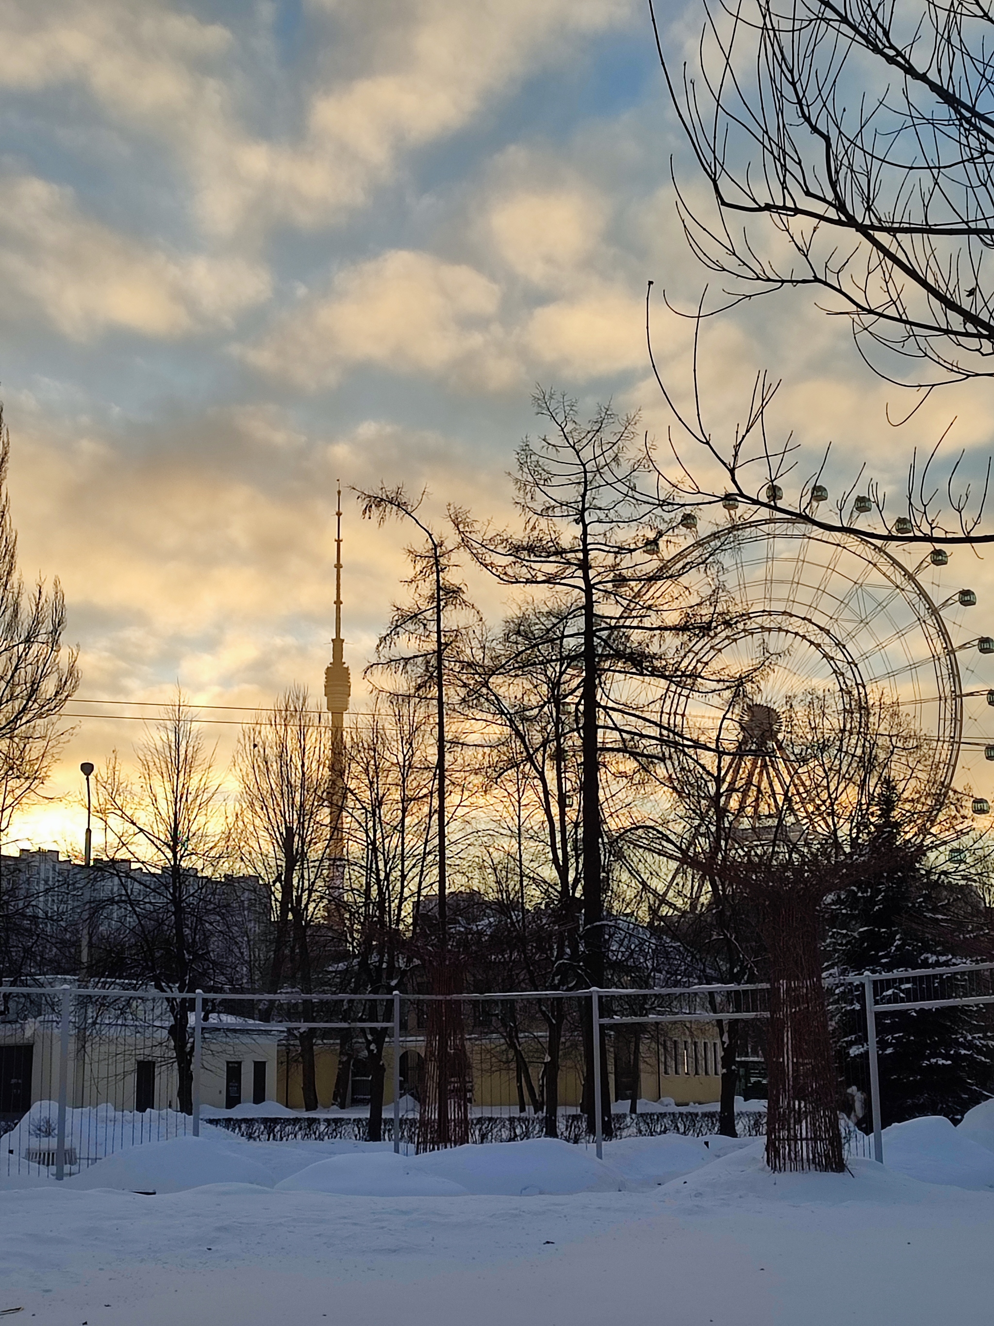
[(392, 249), (339, 273), (327, 294), (301, 301), (243, 353), (309, 390), (364, 363), (497, 387), (516, 375), (500, 301), (472, 267)]

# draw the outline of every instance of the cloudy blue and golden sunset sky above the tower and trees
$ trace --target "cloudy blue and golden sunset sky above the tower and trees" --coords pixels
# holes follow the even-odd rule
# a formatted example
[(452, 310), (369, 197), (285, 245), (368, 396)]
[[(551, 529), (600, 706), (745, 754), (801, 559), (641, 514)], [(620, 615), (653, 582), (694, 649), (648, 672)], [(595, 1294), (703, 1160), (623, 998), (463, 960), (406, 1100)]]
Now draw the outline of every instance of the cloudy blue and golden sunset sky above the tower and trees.
[[(668, 5), (668, 49), (698, 21), (697, 0)], [(4, 0), (0, 42), (21, 568), (65, 590), (74, 712), (131, 705), (78, 719), (61, 800), (11, 838), (70, 846), (78, 764), (127, 757), (137, 701), (178, 683), (201, 705), (272, 703), (292, 682), (321, 695), (337, 480), (360, 692), (407, 536), (362, 524), (351, 488), (427, 487), (436, 518), (448, 501), (502, 517), (535, 383), (640, 410), (665, 438), (645, 282), (692, 308), (713, 281), (671, 162), (706, 198), (643, 0)], [(685, 392), (690, 325), (660, 305), (655, 329)], [(895, 430), (901, 392), (806, 296), (709, 329), (720, 432), (762, 367), (783, 378), (783, 431), (812, 453), (831, 440), (843, 472), (871, 456), (900, 483), (953, 418), (956, 446), (986, 446), (986, 385)], [(986, 578), (971, 561), (978, 593)], [(224, 762), (236, 728), (208, 731)]]

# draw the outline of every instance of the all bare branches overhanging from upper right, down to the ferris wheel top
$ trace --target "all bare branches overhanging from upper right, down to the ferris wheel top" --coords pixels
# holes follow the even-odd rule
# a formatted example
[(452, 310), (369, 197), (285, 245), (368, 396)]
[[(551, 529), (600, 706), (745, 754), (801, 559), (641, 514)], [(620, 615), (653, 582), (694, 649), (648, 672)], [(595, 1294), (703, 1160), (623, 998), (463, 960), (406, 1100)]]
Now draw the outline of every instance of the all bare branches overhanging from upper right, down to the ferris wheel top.
[[(722, 277), (720, 294), (705, 292), (688, 314), (698, 332), (702, 318), (742, 301), (811, 286), (830, 316), (851, 320), (876, 373), (922, 389), (918, 404), (940, 383), (989, 377), (994, 20), (986, 0), (702, 0), (689, 60), (677, 53), (677, 33), (664, 34), (652, 0), (649, 8), (673, 105), (716, 204), (710, 213), (690, 202), (675, 176), (689, 247)], [(773, 436), (777, 387), (758, 374), (734, 436), (716, 436), (701, 416), (694, 363), (696, 408), (677, 411), (679, 442), (692, 440), (696, 452), (681, 475), (692, 500), (787, 513), (820, 529), (860, 524), (869, 540), (994, 538), (981, 529), (990, 463), (971, 489), (962, 452), (941, 456), (949, 430), (914, 448), (889, 512), (865, 465), (836, 476), (835, 511), (824, 505), (828, 448), (804, 461), (790, 435)], [(918, 404), (900, 411), (900, 422)], [(663, 468), (672, 479), (669, 463)], [(861, 518), (871, 511), (875, 526)]]

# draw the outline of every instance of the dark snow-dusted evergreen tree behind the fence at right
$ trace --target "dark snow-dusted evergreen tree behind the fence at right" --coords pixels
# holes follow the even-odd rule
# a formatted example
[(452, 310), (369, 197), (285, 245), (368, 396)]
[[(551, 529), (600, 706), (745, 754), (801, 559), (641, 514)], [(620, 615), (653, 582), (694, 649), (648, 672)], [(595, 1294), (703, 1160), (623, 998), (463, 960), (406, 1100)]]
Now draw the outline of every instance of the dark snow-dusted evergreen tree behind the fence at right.
[[(832, 975), (949, 967), (978, 955), (983, 910), (967, 883), (903, 831), (893, 784), (877, 797), (861, 862), (827, 900), (826, 953)], [(879, 1000), (880, 996), (877, 996)], [(835, 987), (832, 1018), (843, 1087), (867, 1090), (864, 994)], [(877, 1014), (883, 1126), (920, 1115), (953, 1120), (990, 1087), (991, 1038), (982, 1006)], [(859, 1067), (857, 1067), (859, 1065)], [(869, 1110), (863, 1119), (869, 1126)]]

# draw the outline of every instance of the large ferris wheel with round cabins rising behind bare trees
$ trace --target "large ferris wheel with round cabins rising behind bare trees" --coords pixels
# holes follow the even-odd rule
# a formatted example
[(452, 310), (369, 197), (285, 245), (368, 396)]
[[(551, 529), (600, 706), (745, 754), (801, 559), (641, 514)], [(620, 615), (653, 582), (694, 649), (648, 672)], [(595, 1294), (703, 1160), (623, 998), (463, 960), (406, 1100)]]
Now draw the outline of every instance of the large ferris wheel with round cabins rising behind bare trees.
[[(685, 633), (661, 724), (721, 770), (733, 819), (759, 825), (787, 809), (818, 831), (844, 813), (883, 741), (913, 784), (917, 826), (934, 823), (964, 728), (964, 646), (942, 614), (977, 602), (971, 590), (928, 591), (922, 570), (948, 560), (934, 549), (908, 568), (857, 533), (767, 518), (696, 538), (667, 562), (697, 629)], [(994, 640), (969, 647), (991, 652)]]

